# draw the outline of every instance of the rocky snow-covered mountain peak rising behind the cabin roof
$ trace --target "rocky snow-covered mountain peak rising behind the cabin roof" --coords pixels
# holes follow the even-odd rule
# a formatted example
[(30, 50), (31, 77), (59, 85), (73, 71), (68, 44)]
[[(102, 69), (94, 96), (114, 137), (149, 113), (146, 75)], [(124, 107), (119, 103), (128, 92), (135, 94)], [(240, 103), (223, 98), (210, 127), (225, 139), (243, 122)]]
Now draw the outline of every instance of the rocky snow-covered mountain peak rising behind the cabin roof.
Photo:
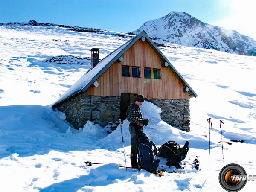
[(132, 33), (145, 30), (151, 38), (161, 38), (188, 47), (215, 49), (239, 55), (256, 56), (256, 41), (234, 30), (212, 26), (185, 12), (170, 12), (145, 22)]

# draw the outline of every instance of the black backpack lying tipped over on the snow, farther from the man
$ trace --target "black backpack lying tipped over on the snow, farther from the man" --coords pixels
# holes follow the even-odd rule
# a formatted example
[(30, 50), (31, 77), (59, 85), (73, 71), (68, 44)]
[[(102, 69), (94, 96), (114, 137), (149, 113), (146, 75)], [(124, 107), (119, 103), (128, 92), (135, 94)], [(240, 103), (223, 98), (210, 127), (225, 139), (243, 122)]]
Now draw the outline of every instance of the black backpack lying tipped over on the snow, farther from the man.
[(175, 141), (167, 141), (160, 148), (158, 148), (158, 156), (167, 159), (166, 165), (180, 166), (179, 162), (186, 158), (189, 151), (189, 142), (186, 141), (185, 145), (180, 148), (180, 145)]

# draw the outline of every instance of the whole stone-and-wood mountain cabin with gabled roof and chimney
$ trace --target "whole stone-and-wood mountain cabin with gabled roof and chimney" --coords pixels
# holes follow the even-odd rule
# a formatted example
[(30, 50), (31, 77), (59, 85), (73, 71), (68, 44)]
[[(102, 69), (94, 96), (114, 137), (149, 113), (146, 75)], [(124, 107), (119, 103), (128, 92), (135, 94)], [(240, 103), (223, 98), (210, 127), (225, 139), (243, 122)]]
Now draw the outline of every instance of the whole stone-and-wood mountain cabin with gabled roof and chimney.
[(189, 98), (197, 94), (143, 31), (99, 61), (91, 49), (92, 67), (53, 105), (75, 128), (87, 120), (106, 126), (125, 119), (134, 96), (162, 109), (169, 125), (189, 131)]

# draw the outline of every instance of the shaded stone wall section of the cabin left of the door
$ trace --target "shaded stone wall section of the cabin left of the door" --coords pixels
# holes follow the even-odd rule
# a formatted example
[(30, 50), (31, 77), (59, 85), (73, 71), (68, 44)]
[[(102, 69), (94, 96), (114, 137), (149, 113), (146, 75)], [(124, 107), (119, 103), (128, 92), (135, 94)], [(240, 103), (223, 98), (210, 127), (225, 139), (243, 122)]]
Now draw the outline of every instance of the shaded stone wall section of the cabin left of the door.
[(119, 122), (120, 97), (113, 96), (88, 96), (87, 92), (59, 103), (56, 108), (66, 114), (66, 120), (75, 128), (83, 127), (87, 120), (102, 127), (108, 122)]

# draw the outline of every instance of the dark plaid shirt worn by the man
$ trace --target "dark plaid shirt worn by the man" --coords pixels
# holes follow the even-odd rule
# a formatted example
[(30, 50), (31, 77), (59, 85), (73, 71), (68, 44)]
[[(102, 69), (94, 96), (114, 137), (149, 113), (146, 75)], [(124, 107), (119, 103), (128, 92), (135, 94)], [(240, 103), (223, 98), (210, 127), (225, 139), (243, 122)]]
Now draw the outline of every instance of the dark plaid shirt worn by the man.
[(142, 114), (140, 111), (140, 106), (136, 105), (134, 102), (126, 110), (126, 119), (133, 123), (142, 123)]

